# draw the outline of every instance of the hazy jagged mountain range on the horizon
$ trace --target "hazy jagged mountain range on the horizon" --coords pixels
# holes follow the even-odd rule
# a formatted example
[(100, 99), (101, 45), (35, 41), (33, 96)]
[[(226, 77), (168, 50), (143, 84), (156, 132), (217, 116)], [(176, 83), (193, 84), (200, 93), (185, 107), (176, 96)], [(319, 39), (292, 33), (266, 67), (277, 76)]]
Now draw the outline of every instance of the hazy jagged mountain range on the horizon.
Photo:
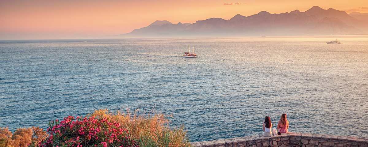
[(294, 10), (280, 14), (261, 11), (258, 14), (235, 15), (226, 20), (209, 18), (193, 24), (155, 21), (120, 37), (173, 36), (259, 36), (259, 35), (358, 35), (368, 33), (365, 14), (314, 6), (305, 12)]

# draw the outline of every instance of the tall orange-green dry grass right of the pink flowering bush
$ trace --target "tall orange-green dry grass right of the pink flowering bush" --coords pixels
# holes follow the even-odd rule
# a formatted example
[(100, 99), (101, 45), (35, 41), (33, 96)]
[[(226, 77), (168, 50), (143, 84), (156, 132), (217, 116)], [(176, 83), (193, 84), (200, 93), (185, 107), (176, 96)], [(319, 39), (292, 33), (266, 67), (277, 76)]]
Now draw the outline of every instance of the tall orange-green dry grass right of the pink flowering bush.
[(171, 129), (169, 120), (163, 114), (138, 116), (137, 111), (110, 113), (105, 109), (96, 110), (91, 116), (117, 121), (128, 129), (131, 139), (137, 140), (141, 147), (190, 147), (183, 127)]

